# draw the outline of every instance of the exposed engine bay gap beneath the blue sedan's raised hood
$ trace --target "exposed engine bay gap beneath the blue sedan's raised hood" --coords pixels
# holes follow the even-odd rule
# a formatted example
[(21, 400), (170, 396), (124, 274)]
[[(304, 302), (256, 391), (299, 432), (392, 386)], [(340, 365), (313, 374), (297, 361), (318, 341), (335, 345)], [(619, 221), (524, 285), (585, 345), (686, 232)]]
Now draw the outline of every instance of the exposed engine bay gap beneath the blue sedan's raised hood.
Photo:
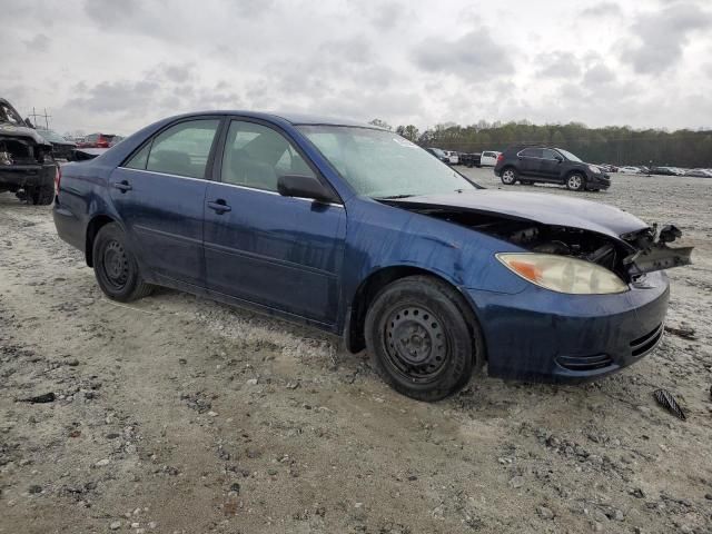
[[(398, 206), (405, 207), (403, 204)], [(591, 261), (629, 281), (645, 273), (691, 263), (692, 247), (668, 246), (682, 235), (672, 225), (660, 230), (653, 225), (615, 239), (581, 228), (543, 225), (471, 210), (439, 207), (412, 210), (500, 237), (533, 253), (572, 256)]]

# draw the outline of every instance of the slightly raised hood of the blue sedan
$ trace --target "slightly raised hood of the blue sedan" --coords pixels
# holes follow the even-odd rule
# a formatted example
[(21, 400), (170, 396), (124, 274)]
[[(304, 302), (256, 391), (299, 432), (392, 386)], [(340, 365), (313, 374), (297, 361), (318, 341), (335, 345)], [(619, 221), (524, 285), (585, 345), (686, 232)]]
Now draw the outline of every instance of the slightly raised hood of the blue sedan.
[(624, 234), (649, 227), (637, 217), (605, 204), (543, 192), (475, 189), (408, 197), (389, 202), (412, 208), (452, 208), (500, 215), (516, 220), (591, 230), (619, 239)]

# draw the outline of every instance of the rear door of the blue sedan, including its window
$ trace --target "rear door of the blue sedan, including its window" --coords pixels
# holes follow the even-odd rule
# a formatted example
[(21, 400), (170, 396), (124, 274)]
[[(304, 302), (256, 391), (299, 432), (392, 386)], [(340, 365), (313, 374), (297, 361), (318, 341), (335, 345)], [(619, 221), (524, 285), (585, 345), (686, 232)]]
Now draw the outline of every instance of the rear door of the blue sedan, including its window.
[(172, 123), (110, 177), (111, 199), (142, 264), (159, 278), (205, 286), (206, 176), (221, 119)]

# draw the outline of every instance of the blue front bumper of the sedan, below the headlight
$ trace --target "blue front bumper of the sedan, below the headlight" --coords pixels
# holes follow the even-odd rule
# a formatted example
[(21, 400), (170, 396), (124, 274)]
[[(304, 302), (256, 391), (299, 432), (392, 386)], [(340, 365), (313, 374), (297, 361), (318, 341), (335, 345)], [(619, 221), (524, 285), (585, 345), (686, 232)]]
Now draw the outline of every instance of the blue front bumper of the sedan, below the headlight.
[(491, 376), (581, 383), (626, 367), (660, 343), (670, 287), (664, 273), (617, 295), (562, 295), (535, 286), (516, 295), (468, 290)]

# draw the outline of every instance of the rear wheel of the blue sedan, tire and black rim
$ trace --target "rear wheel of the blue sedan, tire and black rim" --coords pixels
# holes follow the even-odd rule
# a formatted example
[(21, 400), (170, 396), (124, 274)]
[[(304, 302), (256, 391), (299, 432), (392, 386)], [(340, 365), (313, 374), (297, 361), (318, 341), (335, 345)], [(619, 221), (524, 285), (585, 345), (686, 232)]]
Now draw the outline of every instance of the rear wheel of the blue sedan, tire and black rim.
[(99, 287), (110, 299), (130, 303), (151, 293), (152, 286), (141, 278), (136, 257), (126, 245), (126, 235), (116, 222), (99, 229), (91, 254)]

